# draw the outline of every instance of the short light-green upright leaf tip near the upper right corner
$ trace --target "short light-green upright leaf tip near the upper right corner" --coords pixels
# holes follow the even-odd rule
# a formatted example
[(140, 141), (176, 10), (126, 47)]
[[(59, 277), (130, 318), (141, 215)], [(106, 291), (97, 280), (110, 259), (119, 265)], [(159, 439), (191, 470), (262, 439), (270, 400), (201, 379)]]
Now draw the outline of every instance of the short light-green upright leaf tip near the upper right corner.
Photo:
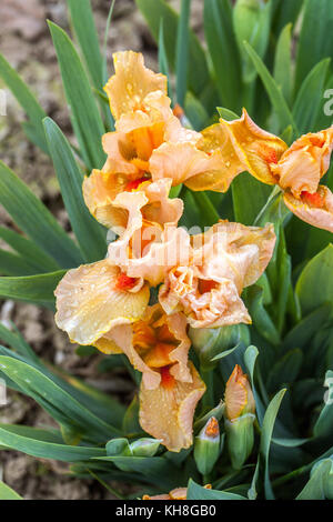
[(274, 61), (274, 80), (287, 103), (292, 101), (292, 24), (287, 23), (279, 37)]

